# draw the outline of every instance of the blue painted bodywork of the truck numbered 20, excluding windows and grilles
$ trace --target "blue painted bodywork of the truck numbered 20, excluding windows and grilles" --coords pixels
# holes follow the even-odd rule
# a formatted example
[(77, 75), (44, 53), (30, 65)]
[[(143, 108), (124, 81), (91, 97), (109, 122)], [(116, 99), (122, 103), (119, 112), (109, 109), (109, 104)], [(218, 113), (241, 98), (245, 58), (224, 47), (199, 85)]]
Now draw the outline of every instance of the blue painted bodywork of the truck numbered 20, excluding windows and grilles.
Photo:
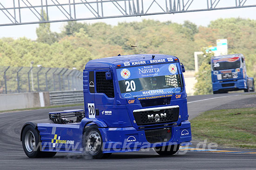
[[(176, 60), (175, 60), (176, 59)], [(129, 99), (122, 97), (117, 79), (117, 68), (126, 68), (130, 66), (138, 66), (146, 64), (160, 64), (175, 63), (177, 65), (178, 74), (182, 75), (182, 69), (177, 57), (155, 54), (154, 61), (152, 55), (130, 55), (120, 57), (108, 57), (96, 60), (91, 60), (86, 64), (83, 73), (83, 91), (84, 91), (84, 108), (85, 118), (80, 123), (70, 123), (66, 125), (52, 124), (52, 123), (39, 123), (37, 125), (40, 132), (42, 141), (42, 151), (60, 151), (60, 152), (82, 152), (82, 135), (86, 131), (86, 127), (96, 125), (99, 127), (101, 136), (104, 142), (104, 153), (108, 152), (126, 152), (126, 151), (139, 151), (141, 148), (149, 148), (162, 145), (182, 144), (189, 145), (191, 141), (191, 127), (188, 121), (188, 107), (187, 107), (187, 94), (185, 90), (184, 77), (182, 75), (183, 88), (182, 91), (176, 92), (171, 97), (171, 102), (164, 106), (178, 105), (180, 107), (180, 119), (176, 125), (164, 126), (158, 124), (158, 127), (145, 126), (144, 129), (156, 129), (169, 127), (171, 129), (171, 139), (167, 142), (156, 144), (148, 143), (145, 137), (145, 131), (139, 130), (139, 126), (134, 123), (133, 110), (141, 109), (141, 103), (138, 98), (132, 98), (134, 102), (129, 103)], [(133, 63), (134, 62), (134, 63)], [(135, 63), (137, 62), (137, 63)], [(128, 65), (129, 66), (125, 66)], [(144, 63), (144, 64), (143, 64)], [(117, 65), (121, 66), (117, 66)], [(135, 65), (137, 64), (137, 65)], [(108, 98), (106, 94), (89, 92), (89, 71), (108, 71), (111, 70), (115, 97)], [(167, 70), (168, 71), (168, 70)], [(96, 80), (94, 74), (94, 80)], [(96, 86), (96, 85), (95, 85)], [(94, 103), (96, 109), (99, 110), (99, 115), (95, 118), (88, 116), (88, 103)], [(159, 106), (154, 106), (159, 107)], [(151, 107), (143, 107), (151, 108)], [(103, 112), (104, 111), (104, 112)], [(106, 112), (107, 111), (107, 112)], [(64, 111), (65, 113), (72, 112), (72, 110)], [(56, 112), (54, 112), (56, 113)], [(58, 112), (62, 113), (62, 112)], [(111, 114), (110, 114), (111, 113)], [(160, 127), (159, 127), (160, 126)], [(55, 136), (56, 135), (56, 136)], [(60, 138), (60, 143), (56, 143), (56, 139)], [(130, 137), (130, 138), (129, 138)], [(135, 138), (135, 139), (134, 139)], [(133, 139), (129, 141), (128, 139)], [(73, 143), (74, 142), (74, 143)], [(56, 143), (56, 144), (54, 144)], [(71, 144), (70, 144), (71, 143)], [(55, 145), (55, 146), (54, 146)], [(127, 148), (127, 145), (130, 149)], [(114, 148), (117, 148), (115, 150)]]

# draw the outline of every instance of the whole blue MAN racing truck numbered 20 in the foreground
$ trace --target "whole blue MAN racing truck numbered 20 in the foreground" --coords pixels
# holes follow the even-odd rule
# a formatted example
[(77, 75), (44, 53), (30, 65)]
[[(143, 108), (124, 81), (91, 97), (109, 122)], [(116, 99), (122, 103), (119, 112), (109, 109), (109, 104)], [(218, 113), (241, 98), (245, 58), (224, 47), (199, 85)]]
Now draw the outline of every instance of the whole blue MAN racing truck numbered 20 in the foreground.
[(190, 145), (187, 94), (179, 59), (127, 55), (89, 61), (83, 71), (84, 110), (50, 112), (24, 124), (20, 134), (28, 157), (56, 152), (93, 158), (154, 148), (173, 155)]

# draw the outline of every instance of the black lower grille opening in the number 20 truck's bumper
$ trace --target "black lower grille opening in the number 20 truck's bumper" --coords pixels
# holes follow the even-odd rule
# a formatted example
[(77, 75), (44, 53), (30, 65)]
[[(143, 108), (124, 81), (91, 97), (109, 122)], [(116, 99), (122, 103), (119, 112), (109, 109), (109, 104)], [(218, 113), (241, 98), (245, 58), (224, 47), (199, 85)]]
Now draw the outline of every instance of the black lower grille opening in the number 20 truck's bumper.
[(149, 143), (168, 142), (171, 139), (171, 129), (146, 130), (145, 135)]

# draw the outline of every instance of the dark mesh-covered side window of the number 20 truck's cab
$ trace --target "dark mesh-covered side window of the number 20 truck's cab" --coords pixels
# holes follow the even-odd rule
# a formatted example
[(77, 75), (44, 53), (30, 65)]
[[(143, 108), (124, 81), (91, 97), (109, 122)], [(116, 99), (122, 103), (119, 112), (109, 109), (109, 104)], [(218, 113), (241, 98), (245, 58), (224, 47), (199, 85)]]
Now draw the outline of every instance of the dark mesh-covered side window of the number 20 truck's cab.
[(115, 97), (113, 80), (106, 80), (106, 72), (96, 72), (96, 91), (110, 98)]

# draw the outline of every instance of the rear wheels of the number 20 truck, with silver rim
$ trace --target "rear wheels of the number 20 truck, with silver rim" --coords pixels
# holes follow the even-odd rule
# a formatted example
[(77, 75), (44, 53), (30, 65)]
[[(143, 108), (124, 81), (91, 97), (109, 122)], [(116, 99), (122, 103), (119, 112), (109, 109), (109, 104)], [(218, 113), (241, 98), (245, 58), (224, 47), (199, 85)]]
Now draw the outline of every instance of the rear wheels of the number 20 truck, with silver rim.
[(40, 151), (41, 143), (38, 130), (27, 125), (22, 131), (22, 146), (27, 157), (53, 157), (56, 152)]

